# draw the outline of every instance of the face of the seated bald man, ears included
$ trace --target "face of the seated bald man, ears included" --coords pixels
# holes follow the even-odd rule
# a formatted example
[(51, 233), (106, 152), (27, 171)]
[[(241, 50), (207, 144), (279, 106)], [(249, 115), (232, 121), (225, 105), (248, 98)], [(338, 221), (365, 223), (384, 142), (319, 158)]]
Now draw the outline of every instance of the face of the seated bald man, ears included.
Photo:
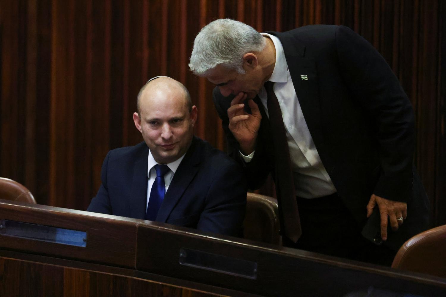
[(188, 150), (197, 120), (197, 107), (189, 112), (184, 90), (146, 88), (140, 98), (140, 114), (133, 114), (155, 161), (161, 164), (179, 159)]

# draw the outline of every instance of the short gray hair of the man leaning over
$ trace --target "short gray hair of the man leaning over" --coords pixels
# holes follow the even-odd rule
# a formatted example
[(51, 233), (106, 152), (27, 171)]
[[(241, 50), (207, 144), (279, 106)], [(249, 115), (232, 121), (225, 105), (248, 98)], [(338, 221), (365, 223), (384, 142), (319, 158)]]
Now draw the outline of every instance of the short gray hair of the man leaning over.
[(195, 75), (203, 75), (217, 65), (245, 73), (243, 56), (260, 52), (266, 41), (251, 26), (231, 19), (219, 19), (204, 26), (195, 37), (189, 67)]

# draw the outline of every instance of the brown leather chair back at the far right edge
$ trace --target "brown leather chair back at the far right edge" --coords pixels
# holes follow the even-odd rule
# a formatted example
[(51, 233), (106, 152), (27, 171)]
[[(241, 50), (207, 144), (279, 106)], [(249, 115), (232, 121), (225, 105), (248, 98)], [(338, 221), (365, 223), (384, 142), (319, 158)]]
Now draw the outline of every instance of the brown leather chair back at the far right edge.
[(446, 277), (446, 225), (407, 240), (396, 253), (392, 268)]

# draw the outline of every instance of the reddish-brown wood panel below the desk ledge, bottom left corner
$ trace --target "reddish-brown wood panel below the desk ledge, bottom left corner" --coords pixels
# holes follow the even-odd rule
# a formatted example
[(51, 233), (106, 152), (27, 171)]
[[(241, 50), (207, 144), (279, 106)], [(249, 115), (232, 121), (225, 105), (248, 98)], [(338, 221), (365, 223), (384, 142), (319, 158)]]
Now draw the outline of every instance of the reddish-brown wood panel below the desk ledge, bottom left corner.
[(0, 296), (205, 297), (221, 295), (109, 272), (0, 257)]

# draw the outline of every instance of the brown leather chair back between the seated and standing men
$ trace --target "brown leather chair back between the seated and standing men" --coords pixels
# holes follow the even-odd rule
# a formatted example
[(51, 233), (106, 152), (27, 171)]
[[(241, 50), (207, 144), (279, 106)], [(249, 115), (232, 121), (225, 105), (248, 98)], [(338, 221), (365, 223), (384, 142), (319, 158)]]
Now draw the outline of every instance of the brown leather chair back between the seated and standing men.
[(265, 195), (248, 193), (243, 229), (246, 239), (281, 245), (277, 200)]

